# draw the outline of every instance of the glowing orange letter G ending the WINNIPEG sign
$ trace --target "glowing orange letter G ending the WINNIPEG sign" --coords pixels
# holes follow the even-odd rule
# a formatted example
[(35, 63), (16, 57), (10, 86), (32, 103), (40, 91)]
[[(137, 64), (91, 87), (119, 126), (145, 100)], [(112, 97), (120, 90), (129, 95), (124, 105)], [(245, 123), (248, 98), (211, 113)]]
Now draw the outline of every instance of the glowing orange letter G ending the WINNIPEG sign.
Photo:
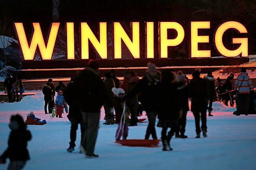
[(215, 45), (219, 53), (226, 57), (248, 57), (248, 38), (233, 38), (232, 43), (241, 44), (237, 50), (228, 50), (222, 41), (224, 32), (228, 29), (236, 29), (239, 33), (247, 33), (246, 28), (239, 22), (228, 21), (223, 23), (215, 33)]

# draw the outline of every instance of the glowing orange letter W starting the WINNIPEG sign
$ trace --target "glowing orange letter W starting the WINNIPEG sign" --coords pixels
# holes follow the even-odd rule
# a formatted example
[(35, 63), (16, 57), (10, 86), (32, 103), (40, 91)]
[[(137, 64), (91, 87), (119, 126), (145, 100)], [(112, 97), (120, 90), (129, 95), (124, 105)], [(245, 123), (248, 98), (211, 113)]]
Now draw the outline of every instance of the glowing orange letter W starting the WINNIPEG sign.
[(25, 34), (25, 30), (23, 27), (23, 23), (14, 23), (15, 29), (18, 35), (19, 44), (22, 47), (22, 53), (25, 60), (33, 60), (36, 47), (38, 45), (39, 51), (41, 53), (43, 60), (51, 60), (54, 44), (56, 41), (59, 23), (53, 22), (51, 26), (51, 31), (49, 34), (47, 46), (45, 44), (44, 37), (42, 37), (42, 32), (39, 23), (33, 23), (34, 33), (32, 36), (32, 40), (30, 46), (28, 44), (28, 40)]

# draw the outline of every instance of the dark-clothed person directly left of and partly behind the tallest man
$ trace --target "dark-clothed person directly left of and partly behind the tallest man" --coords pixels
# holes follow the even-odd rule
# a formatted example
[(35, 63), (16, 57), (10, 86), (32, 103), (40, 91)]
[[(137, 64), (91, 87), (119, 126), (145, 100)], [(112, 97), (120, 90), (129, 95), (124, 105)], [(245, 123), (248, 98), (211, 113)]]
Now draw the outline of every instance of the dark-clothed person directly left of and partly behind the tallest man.
[(67, 85), (67, 88), (64, 92), (64, 99), (69, 105), (69, 114), (68, 118), (71, 122), (71, 129), (70, 129), (70, 142), (69, 148), (67, 149), (68, 152), (73, 152), (75, 150), (75, 141), (76, 141), (76, 131), (78, 129), (78, 125), (80, 124), (81, 130), (81, 142), (83, 139), (84, 134), (84, 127), (82, 123), (82, 113), (80, 111), (78, 102), (77, 102), (77, 94), (74, 93), (74, 81), (76, 78), (71, 78), (70, 83)]

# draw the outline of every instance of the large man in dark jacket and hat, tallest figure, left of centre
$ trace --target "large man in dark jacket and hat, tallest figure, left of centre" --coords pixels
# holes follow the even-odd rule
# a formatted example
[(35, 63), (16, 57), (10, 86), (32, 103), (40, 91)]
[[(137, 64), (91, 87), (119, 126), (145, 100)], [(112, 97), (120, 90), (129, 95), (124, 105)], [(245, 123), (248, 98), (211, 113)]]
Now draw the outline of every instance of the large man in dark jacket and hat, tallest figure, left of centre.
[(87, 157), (98, 157), (94, 154), (99, 129), (100, 108), (103, 104), (112, 107), (106, 88), (99, 76), (99, 64), (90, 60), (88, 66), (74, 82), (74, 93), (78, 95), (78, 104), (82, 113), (84, 136), (80, 151)]

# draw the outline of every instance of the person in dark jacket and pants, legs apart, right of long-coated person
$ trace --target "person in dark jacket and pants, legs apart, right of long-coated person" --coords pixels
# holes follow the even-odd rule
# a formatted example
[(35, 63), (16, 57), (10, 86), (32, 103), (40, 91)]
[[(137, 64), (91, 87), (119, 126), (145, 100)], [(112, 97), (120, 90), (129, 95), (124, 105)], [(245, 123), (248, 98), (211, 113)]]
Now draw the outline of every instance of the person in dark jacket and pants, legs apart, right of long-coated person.
[[(196, 138), (200, 138), (201, 128), (203, 136), (207, 137), (206, 110), (207, 110), (207, 83), (200, 78), (200, 71), (193, 72), (193, 79), (188, 86), (188, 96), (191, 98), (191, 111), (195, 116)], [(202, 126), (200, 128), (200, 113)]]

